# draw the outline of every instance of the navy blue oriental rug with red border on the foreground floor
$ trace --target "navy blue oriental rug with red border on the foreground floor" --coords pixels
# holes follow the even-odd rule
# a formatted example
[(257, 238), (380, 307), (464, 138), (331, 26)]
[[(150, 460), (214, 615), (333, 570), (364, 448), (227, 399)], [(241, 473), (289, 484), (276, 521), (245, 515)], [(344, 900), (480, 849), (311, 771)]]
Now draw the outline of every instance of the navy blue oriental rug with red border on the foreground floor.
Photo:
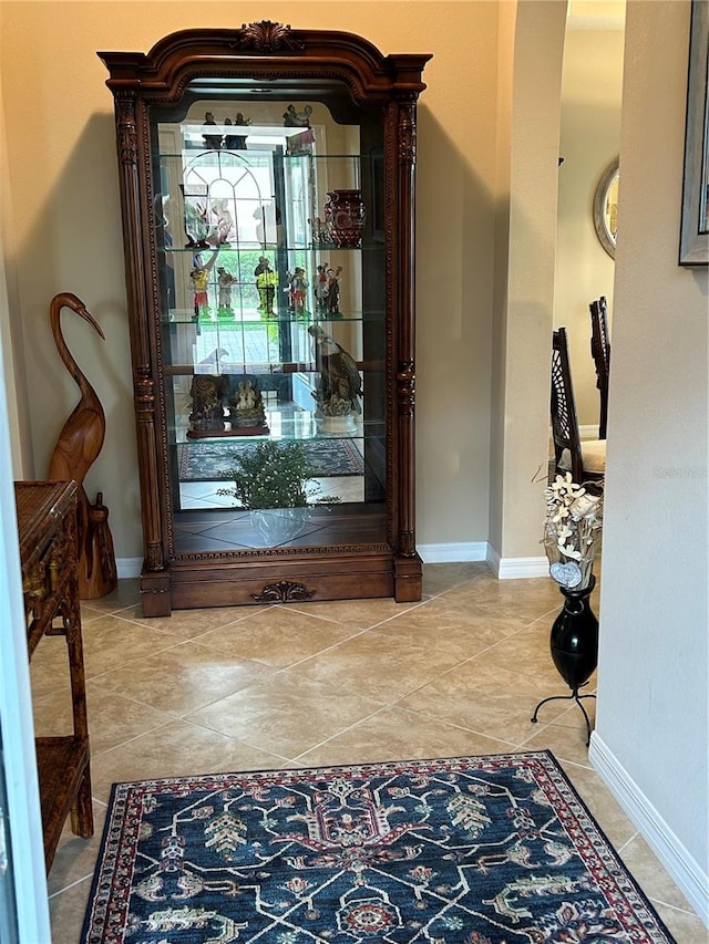
[(82, 944), (668, 944), (548, 751), (116, 784)]

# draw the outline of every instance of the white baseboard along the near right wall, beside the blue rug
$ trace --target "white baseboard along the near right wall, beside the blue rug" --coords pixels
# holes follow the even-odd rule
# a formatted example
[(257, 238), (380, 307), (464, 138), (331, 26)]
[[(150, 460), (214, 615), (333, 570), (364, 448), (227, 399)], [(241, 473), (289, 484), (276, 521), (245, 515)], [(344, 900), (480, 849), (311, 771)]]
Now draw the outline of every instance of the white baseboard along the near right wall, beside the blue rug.
[(590, 736), (588, 759), (687, 901), (709, 927), (709, 874), (702, 872), (699, 863), (685, 849), (596, 732)]

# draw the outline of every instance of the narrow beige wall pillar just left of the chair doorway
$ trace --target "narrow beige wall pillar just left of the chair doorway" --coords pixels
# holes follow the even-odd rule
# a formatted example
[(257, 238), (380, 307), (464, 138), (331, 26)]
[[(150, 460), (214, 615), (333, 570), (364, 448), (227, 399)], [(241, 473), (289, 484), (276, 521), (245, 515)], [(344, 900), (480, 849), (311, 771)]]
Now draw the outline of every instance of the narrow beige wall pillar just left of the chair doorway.
[[(510, 28), (507, 14), (501, 23)], [(540, 521), (548, 450), (549, 338), (554, 301), (556, 190), (566, 3), (518, 3), (511, 63), (508, 217), (495, 259), (494, 417), (490, 541), (507, 562), (540, 560)], [(504, 85), (503, 85), (504, 87)], [(500, 240), (502, 242), (502, 239)], [(515, 564), (512, 563), (512, 567)], [(543, 567), (542, 564), (540, 564)], [(545, 572), (545, 568), (538, 571)], [(511, 575), (511, 574), (507, 574)]]

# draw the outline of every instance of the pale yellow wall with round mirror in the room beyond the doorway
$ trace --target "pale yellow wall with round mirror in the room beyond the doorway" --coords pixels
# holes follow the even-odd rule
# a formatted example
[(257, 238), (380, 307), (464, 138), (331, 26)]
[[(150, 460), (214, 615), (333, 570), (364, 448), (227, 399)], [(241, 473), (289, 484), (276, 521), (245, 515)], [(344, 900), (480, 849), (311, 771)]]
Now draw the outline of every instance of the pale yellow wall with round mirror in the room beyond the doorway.
[(588, 304), (606, 295), (613, 324), (614, 261), (596, 236), (593, 204), (599, 178), (620, 149), (624, 34), (619, 28), (575, 29), (574, 22), (566, 32), (562, 83), (554, 326), (568, 330), (578, 422), (597, 427)]

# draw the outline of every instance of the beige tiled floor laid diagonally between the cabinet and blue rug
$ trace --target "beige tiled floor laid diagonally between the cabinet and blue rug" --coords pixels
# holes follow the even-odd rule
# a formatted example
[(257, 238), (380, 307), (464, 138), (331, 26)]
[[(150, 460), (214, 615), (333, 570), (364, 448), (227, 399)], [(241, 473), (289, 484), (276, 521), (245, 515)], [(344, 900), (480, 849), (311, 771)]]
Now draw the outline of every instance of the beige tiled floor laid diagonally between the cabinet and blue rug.
[[(53, 944), (76, 944), (111, 784), (172, 775), (549, 748), (679, 944), (709, 934), (588, 763), (548, 652), (549, 579), (429, 564), (424, 599), (175, 612), (137, 581), (82, 606), (96, 834), (66, 828), (50, 872)], [(593, 605), (598, 612), (598, 590)], [(66, 732), (61, 640), (32, 661), (38, 734)], [(593, 685), (594, 680), (592, 680)], [(593, 718), (594, 701), (587, 699)]]

